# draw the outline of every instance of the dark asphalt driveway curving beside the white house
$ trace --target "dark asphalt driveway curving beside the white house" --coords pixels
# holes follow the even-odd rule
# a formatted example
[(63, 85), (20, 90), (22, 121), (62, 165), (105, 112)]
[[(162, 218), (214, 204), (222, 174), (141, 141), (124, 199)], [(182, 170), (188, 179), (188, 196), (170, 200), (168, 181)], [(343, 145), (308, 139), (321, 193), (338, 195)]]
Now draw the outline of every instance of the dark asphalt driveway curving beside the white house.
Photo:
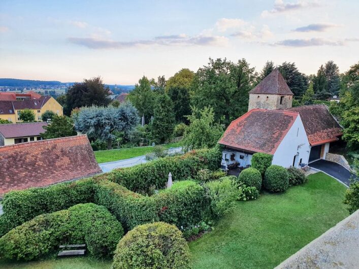
[(340, 180), (347, 186), (349, 186), (350, 177), (353, 176), (342, 165), (332, 161), (317, 160), (310, 163), (309, 166), (331, 175), (332, 177)]

